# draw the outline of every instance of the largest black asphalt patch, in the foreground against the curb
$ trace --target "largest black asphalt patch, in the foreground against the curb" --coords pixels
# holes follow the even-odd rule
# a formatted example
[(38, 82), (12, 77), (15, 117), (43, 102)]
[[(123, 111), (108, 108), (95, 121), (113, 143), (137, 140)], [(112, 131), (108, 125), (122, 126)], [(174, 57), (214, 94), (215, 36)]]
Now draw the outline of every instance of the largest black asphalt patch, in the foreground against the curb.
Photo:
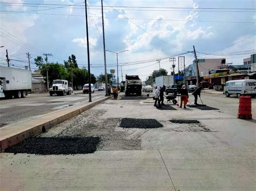
[(5, 150), (7, 153), (87, 154), (97, 150), (99, 137), (31, 137)]

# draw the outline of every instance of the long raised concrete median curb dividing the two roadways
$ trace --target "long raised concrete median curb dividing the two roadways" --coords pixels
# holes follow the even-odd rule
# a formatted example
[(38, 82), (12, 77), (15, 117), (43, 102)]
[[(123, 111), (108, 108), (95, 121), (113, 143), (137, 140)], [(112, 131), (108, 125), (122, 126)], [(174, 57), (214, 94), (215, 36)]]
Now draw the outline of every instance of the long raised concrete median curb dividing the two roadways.
[(44, 132), (53, 126), (64, 122), (66, 119), (76, 116), (109, 98), (110, 96), (82, 105), (73, 105), (69, 108), (53, 111), (33, 119), (4, 126), (3, 128), (0, 128), (0, 151), (22, 142), (26, 138)]

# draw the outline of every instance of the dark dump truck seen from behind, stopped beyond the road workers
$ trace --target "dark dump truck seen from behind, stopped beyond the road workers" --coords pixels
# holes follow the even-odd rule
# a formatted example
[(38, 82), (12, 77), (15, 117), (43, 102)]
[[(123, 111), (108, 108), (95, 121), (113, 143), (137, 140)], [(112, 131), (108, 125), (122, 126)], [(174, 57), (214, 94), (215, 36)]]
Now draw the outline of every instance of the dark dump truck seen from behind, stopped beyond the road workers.
[(125, 75), (125, 95), (142, 95), (142, 80), (138, 75)]

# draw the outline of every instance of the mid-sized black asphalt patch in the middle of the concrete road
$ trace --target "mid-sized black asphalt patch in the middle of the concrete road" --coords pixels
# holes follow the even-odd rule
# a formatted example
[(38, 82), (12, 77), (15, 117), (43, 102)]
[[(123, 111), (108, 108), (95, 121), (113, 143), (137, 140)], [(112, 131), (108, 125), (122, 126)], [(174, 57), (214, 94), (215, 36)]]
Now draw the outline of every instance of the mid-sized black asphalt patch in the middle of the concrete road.
[(156, 119), (122, 118), (120, 128), (154, 129), (163, 128)]

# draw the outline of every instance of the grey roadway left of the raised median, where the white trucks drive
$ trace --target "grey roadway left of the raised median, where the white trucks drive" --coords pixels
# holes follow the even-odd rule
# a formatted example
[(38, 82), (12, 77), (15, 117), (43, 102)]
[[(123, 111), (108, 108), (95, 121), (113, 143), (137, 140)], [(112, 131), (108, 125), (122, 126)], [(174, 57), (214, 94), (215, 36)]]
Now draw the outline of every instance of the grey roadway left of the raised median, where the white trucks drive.
[[(79, 91), (78, 91), (79, 92)], [(81, 91), (82, 92), (82, 91)], [(105, 96), (105, 91), (95, 91), (92, 100)], [(52, 97), (48, 93), (29, 94), (26, 98), (0, 100), (0, 128), (24, 121), (51, 111), (89, 101), (89, 94), (72, 94)]]

